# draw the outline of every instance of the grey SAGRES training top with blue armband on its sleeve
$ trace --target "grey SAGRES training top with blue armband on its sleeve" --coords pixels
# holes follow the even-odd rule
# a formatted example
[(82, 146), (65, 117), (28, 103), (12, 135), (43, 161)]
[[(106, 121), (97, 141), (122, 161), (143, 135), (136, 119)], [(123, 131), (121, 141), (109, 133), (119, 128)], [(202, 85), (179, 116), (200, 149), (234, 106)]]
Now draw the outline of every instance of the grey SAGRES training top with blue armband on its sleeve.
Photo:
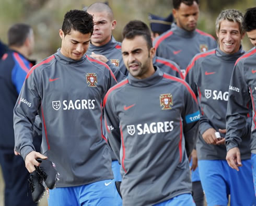
[(129, 74), (103, 102), (123, 205), (153, 205), (192, 190), (187, 154), (198, 132), (197, 100), (184, 80), (155, 69), (143, 80)]

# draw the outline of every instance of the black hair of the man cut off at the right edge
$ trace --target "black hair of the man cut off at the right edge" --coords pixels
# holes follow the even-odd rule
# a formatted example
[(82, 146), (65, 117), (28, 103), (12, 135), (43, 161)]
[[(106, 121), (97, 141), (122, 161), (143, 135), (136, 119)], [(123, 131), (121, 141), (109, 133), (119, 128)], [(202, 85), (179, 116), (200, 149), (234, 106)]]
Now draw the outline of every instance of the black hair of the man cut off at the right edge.
[(256, 7), (248, 8), (243, 16), (242, 27), (245, 31), (256, 29)]

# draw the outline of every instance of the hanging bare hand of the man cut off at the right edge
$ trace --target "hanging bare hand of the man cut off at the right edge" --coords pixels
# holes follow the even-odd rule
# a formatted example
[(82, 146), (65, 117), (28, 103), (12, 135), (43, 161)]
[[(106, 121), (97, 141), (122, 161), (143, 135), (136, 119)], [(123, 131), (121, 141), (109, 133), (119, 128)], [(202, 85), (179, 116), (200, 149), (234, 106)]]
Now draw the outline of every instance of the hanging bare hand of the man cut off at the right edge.
[(242, 166), (239, 148), (232, 148), (228, 150), (226, 160), (231, 168), (239, 171), (238, 167)]

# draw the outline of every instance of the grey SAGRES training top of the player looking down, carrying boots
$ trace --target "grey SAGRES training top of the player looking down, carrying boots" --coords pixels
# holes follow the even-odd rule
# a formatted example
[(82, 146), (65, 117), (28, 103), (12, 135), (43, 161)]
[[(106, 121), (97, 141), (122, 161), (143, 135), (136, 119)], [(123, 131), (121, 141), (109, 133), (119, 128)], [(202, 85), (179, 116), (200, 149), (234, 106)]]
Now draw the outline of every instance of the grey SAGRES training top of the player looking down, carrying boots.
[(106, 64), (86, 55), (73, 60), (60, 49), (32, 67), (14, 108), (16, 150), (24, 159), (34, 150), (31, 123), (39, 111), (41, 152), (60, 173), (57, 187), (112, 179), (101, 118), (103, 97), (115, 83)]

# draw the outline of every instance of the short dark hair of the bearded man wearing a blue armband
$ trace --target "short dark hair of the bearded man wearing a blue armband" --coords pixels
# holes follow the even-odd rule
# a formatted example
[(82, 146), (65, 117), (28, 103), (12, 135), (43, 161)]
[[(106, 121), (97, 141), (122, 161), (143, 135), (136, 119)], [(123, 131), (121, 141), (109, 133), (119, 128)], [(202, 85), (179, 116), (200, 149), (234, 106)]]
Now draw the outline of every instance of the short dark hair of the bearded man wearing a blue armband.
[(153, 47), (150, 29), (143, 21), (133, 20), (127, 23), (122, 31), (123, 39), (134, 39), (136, 36), (142, 36), (146, 42), (148, 50)]

